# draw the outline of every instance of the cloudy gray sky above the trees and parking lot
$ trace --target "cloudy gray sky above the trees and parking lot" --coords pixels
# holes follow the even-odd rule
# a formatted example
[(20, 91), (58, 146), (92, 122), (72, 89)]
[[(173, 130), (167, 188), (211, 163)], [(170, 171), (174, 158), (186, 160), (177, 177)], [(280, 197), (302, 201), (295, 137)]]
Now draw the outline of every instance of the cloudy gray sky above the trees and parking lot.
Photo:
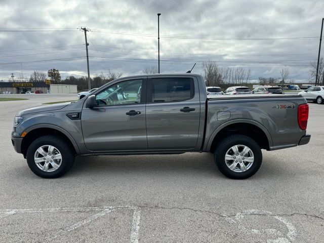
[[(156, 14), (161, 13), (162, 73), (185, 72), (195, 62), (193, 72), (202, 73), (202, 61), (214, 60), (221, 67), (250, 67), (251, 79), (279, 77), (287, 67), (289, 79), (303, 82), (309, 62), (317, 59), (323, 10), (322, 0), (0, 0), (0, 80), (7, 81), (11, 72), (19, 77), (21, 67), (28, 77), (33, 70), (51, 68), (62, 78), (86, 75), (81, 26), (92, 30), (91, 76), (107, 69), (140, 74), (157, 66)], [(54, 28), (64, 29), (48, 31)]]

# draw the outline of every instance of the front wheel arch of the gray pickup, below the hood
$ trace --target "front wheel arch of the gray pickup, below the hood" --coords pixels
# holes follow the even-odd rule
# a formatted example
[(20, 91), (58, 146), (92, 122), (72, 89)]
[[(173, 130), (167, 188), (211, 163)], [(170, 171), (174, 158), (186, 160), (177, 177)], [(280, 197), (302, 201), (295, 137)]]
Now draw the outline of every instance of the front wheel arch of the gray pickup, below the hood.
[(80, 154), (80, 150), (73, 137), (64, 129), (51, 124), (38, 124), (25, 130), (27, 133), (21, 143), (21, 151), (26, 156), (27, 149), (32, 141), (45, 135), (58, 135), (64, 138), (74, 149), (75, 153)]

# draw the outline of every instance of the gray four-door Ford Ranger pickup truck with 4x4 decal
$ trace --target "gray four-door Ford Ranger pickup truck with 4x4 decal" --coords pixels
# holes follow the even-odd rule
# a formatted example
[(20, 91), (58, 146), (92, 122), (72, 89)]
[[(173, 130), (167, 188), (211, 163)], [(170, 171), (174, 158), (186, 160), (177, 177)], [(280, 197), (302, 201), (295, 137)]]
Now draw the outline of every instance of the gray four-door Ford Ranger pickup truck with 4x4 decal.
[(261, 149), (307, 144), (308, 104), (298, 95), (208, 98), (198, 74), (114, 80), (90, 96), (16, 114), (12, 144), (31, 171), (57, 178), (76, 155), (214, 153), (227, 177), (245, 179)]

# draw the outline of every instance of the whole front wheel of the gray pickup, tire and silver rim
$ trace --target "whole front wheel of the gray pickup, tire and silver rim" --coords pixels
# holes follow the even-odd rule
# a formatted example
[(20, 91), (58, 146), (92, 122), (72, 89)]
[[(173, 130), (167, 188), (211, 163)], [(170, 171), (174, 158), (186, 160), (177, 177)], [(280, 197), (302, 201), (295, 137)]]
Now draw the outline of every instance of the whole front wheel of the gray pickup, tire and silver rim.
[(58, 178), (73, 165), (75, 153), (65, 139), (46, 135), (34, 140), (27, 150), (30, 170), (43, 178)]

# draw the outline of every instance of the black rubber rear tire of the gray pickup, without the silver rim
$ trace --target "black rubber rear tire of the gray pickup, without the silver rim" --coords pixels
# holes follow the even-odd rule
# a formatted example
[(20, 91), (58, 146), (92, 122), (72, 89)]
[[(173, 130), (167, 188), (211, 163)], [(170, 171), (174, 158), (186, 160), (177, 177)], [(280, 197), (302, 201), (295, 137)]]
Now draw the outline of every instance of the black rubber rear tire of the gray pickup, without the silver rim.
[[(226, 152), (235, 145), (248, 146), (254, 155), (254, 161), (251, 167), (244, 172), (235, 172), (228, 168), (225, 161)], [(230, 135), (223, 139), (217, 146), (214, 153), (215, 163), (220, 172), (231, 179), (246, 179), (253, 176), (260, 169), (262, 164), (262, 152), (259, 144), (252, 138), (245, 135)]]

